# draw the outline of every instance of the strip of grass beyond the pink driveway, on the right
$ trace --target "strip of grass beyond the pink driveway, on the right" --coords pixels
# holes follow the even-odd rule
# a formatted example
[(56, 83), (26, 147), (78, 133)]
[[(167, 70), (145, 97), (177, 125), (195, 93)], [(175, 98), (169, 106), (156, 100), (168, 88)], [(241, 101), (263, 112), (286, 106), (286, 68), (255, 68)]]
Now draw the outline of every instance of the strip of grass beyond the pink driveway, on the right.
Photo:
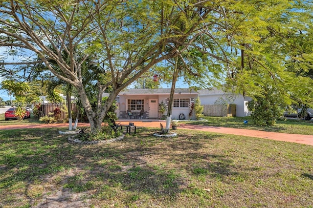
[[(313, 119), (312, 121), (298, 121), (297, 119), (278, 120), (273, 126), (254, 125), (250, 117), (204, 117), (204, 119), (206, 121), (184, 121), (183, 123), (313, 135)], [(244, 120), (248, 121), (248, 124), (244, 124)]]

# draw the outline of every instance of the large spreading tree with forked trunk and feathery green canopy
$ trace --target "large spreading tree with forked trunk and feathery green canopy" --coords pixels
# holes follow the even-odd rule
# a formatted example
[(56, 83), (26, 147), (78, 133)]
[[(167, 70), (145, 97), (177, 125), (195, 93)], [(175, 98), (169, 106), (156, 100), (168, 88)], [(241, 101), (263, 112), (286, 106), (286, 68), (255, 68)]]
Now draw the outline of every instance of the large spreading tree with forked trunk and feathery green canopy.
[[(192, 48), (207, 55), (206, 74), (211, 78), (227, 76), (247, 92), (248, 86), (258, 80), (245, 79), (251, 71), (259, 70), (269, 74), (267, 79), (273, 84), (277, 82), (277, 88), (283, 88), (279, 79), (289, 78), (283, 68), (291, 53), (286, 49), (281, 52), (281, 49), (288, 45), (288, 34), (296, 38), (299, 33), (297, 25), (290, 20), (300, 7), (309, 9), (307, 5), (312, 4), (308, 1), (307, 5), (302, 5), (303, 2), (1, 1), (0, 46), (7, 47), (10, 55), (27, 55), (19, 61), (3, 61), (3, 65), (43, 62), (56, 77), (76, 88), (90, 126), (96, 130), (122, 89), (152, 66), (179, 57)], [(207, 44), (208, 39), (210, 44)], [(47, 45), (52, 45), (53, 50)], [(67, 60), (62, 57), (64, 51), (68, 54)], [(240, 52), (241, 59), (238, 58)], [(78, 55), (82, 53), (83, 57)], [(31, 55), (40, 59), (32, 60)], [(95, 110), (91, 108), (82, 81), (82, 64), (90, 56), (96, 57), (95, 62), (101, 67), (100, 71), (89, 70), (91, 74), (100, 75), (92, 81), (98, 88)], [(60, 71), (54, 69), (51, 60), (58, 64)], [(102, 93), (109, 86), (112, 91), (102, 104)], [(251, 89), (263, 90), (262, 87)]]

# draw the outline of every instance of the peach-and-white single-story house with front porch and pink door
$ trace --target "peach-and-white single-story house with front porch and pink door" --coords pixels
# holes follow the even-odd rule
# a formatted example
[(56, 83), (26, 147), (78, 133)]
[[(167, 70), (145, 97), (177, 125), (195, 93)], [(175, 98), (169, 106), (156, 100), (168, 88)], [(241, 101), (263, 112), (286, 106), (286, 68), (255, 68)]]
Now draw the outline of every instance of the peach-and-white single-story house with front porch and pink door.
[[(158, 104), (163, 101), (168, 105), (170, 88), (159, 89), (125, 89), (116, 98), (118, 104), (118, 118), (129, 118), (128, 111), (139, 113), (143, 110), (143, 117), (146, 119), (156, 119), (158, 115)], [(195, 119), (193, 114), (189, 118), (190, 106), (198, 97), (198, 92), (189, 88), (176, 88), (174, 94), (174, 104), (172, 119), (179, 119), (183, 114), (185, 119)]]

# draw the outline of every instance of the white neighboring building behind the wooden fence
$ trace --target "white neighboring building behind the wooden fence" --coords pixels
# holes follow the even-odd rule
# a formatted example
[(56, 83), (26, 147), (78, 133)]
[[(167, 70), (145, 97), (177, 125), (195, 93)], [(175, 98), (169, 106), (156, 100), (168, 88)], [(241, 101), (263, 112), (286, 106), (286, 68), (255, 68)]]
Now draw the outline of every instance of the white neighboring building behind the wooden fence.
[(246, 103), (251, 101), (251, 98), (244, 97), (240, 94), (226, 93), (222, 90), (198, 90), (201, 104), (236, 104), (236, 116), (245, 117), (250, 115)]

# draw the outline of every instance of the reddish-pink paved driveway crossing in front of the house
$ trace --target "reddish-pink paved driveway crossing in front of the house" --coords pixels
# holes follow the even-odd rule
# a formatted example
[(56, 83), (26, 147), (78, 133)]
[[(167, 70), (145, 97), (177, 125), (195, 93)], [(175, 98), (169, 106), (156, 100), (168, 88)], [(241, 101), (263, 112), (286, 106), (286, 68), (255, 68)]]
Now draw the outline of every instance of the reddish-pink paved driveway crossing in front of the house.
[[(122, 125), (128, 125), (129, 122), (133, 122), (134, 125), (140, 127), (160, 127), (160, 123), (165, 126), (165, 121), (156, 121), (156, 120), (141, 120), (141, 121), (131, 121), (131, 120), (119, 120), (116, 123), (121, 123)], [(20, 129), (20, 128), (52, 128), (52, 127), (67, 127), (68, 124), (35, 124), (35, 125), (2, 125), (0, 130), (4, 129)], [(89, 123), (79, 123), (78, 127), (89, 126)], [(190, 130), (201, 130), (209, 131), (223, 134), (233, 134), (241, 135), (248, 137), (257, 137), (264, 139), (271, 139), (277, 141), (293, 142), (305, 145), (313, 146), (313, 135), (301, 135), (301, 134), (287, 134), (287, 133), (277, 133), (277, 132), (268, 132), (268, 131), (258, 131), (250, 129), (241, 129), (241, 128), (226, 128), (218, 126), (203, 126), (203, 125), (187, 125), (180, 124), (179, 128), (190, 129)]]

